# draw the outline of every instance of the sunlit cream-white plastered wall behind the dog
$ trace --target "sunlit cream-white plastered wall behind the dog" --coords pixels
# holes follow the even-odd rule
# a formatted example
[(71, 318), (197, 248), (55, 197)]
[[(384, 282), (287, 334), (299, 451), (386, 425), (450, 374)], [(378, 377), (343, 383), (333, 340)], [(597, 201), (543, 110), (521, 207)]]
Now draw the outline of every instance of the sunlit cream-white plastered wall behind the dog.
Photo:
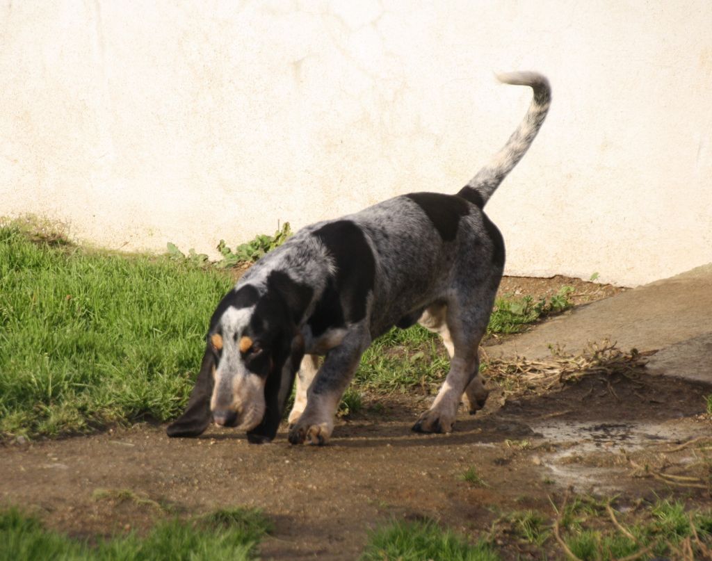
[(554, 102), (487, 206), (508, 273), (635, 285), (712, 261), (708, 0), (8, 1), (0, 215), (211, 251), (418, 190)]

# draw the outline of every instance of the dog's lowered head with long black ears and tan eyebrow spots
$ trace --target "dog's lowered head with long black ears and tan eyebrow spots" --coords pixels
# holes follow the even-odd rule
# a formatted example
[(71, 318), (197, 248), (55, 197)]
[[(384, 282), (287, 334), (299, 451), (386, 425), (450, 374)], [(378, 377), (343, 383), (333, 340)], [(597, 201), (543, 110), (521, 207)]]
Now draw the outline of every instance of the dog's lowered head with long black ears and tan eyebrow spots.
[(168, 436), (197, 436), (212, 419), (245, 429), (251, 442), (274, 438), (304, 355), (297, 322), (310, 290), (300, 288), (273, 272), (266, 290), (245, 284), (221, 300), (187, 409)]

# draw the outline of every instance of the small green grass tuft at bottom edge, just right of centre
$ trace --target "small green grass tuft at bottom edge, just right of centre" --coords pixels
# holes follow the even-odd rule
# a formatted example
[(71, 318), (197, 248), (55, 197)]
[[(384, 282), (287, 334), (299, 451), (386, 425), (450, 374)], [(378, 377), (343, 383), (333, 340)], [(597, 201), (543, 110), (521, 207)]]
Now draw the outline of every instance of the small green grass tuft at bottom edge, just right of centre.
[(497, 561), (499, 555), (487, 542), (471, 545), (451, 530), (434, 522), (397, 521), (375, 530), (361, 556), (362, 561)]

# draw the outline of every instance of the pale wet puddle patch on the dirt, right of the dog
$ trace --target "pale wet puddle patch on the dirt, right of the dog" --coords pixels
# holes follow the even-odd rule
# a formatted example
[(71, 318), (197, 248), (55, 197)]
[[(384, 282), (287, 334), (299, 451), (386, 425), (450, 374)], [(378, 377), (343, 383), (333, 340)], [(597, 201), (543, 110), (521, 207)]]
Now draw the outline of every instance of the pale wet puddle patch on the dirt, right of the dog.
[(679, 427), (645, 422), (582, 423), (577, 421), (545, 421), (531, 426), (535, 433), (554, 444), (569, 444), (567, 449), (542, 458), (562, 486), (573, 486), (575, 491), (611, 493), (624, 488), (621, 476), (627, 468), (589, 466), (585, 456), (592, 453), (619, 453), (620, 449), (634, 451), (651, 444), (686, 439), (689, 434)]

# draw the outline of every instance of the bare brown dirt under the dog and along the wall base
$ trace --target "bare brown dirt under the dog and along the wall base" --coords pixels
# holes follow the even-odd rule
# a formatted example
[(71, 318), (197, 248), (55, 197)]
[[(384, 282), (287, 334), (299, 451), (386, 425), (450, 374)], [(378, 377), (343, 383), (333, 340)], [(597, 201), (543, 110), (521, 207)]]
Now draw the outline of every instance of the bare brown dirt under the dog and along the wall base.
[[(562, 284), (573, 284), (580, 302), (619, 290), (561, 278), (548, 285), (507, 279), (503, 290), (538, 295)], [(631, 504), (671, 492), (711, 504), (708, 489), (654, 478), (664, 471), (696, 476), (706, 468), (696, 467), (693, 446), (675, 448), (711, 434), (709, 387), (644, 369), (591, 374), (545, 391), (490, 387), (486, 408), (474, 416), (461, 409), (448, 435), (410, 430), (433, 399), (415, 391), (367, 396), (357, 414), (337, 422), (323, 447), (290, 446), (286, 426), (273, 444), (253, 446), (230, 429), (169, 440), (163, 426), (149, 424), (6, 443), (1, 501), (35, 510), (52, 528), (82, 537), (142, 530), (167, 515), (258, 506), (276, 523), (261, 554), (279, 560), (355, 559), (368, 530), (392, 518), (436, 518), (481, 536), (513, 510), (551, 512), (550, 500), (559, 501), (570, 486)], [(644, 465), (652, 469), (644, 473)], [(486, 486), (464, 481), (468, 468), (476, 468)], [(98, 500), (102, 489), (148, 500)], [(533, 545), (498, 539), (505, 558), (541, 557)]]

